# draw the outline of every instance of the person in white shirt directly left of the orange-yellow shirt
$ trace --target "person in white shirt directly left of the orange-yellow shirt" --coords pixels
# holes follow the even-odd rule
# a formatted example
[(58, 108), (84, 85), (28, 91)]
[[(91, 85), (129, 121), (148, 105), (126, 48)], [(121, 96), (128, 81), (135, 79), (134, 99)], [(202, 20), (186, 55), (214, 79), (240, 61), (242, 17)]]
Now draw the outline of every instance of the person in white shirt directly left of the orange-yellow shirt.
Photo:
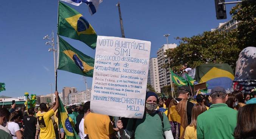
[[(90, 101), (85, 102), (84, 104), (84, 118), (85, 116), (90, 113)], [(87, 139), (87, 134), (84, 133), (84, 118), (79, 123), (79, 137), (81, 139)]]

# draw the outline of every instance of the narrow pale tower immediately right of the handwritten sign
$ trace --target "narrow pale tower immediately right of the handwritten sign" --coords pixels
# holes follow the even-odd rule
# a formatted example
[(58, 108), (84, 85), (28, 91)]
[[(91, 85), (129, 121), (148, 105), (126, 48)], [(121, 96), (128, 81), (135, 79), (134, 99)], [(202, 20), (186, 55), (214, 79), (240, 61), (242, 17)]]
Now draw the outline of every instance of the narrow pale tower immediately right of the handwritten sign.
[(160, 93), (159, 75), (157, 58), (150, 58), (149, 73), (147, 75), (147, 84), (150, 84), (157, 93)]

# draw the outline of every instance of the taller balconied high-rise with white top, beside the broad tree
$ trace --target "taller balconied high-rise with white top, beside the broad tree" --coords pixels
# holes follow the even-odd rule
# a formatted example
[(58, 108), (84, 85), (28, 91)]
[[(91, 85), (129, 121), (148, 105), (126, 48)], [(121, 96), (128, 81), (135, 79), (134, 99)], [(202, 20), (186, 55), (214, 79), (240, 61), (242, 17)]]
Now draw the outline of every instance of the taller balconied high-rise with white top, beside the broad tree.
[(163, 68), (164, 64), (169, 62), (169, 58), (164, 54), (167, 49), (172, 49), (177, 47), (177, 44), (164, 44), (157, 51), (157, 64), (158, 64), (158, 75), (159, 75), (159, 85), (160, 89), (163, 86), (168, 86), (171, 84), (169, 69)]

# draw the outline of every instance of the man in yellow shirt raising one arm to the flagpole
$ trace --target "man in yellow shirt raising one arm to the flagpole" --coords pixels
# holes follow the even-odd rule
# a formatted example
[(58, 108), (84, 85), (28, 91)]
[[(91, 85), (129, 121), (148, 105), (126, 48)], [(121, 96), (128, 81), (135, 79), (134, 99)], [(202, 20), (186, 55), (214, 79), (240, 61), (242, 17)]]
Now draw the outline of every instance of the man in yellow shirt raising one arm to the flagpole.
[[(56, 96), (56, 103), (54, 107), (48, 111), (47, 105), (45, 103), (40, 104), (41, 113), (37, 115), (37, 121), (40, 127), (40, 139), (56, 139), (54, 127), (53, 127), (53, 120), (51, 117), (54, 115), (54, 112), (59, 107), (59, 96), (58, 92), (54, 92)], [(36, 134), (35, 139), (37, 139), (38, 134)]]

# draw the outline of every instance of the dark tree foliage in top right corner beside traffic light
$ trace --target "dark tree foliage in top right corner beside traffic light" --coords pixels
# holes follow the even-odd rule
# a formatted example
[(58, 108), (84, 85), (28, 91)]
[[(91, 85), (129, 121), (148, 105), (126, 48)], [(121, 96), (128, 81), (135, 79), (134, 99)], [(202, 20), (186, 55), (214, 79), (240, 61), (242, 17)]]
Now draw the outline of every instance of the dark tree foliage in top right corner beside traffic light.
[(256, 46), (256, 0), (244, 0), (234, 6), (230, 15), (239, 21), (237, 31), (237, 45), (240, 49)]

